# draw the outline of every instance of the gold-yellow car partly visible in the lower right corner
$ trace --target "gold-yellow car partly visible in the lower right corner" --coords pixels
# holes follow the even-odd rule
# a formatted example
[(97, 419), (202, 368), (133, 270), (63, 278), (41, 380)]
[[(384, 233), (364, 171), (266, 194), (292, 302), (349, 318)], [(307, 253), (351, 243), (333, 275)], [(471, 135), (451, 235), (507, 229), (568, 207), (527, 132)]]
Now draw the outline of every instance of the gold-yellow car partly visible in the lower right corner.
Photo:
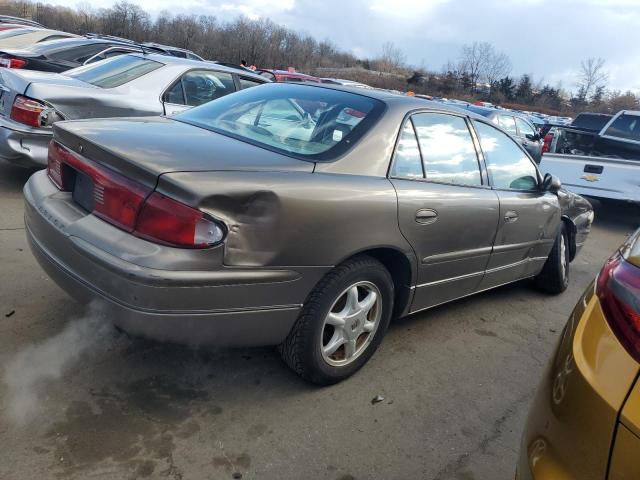
[(640, 479), (640, 230), (576, 305), (525, 427), (518, 480)]

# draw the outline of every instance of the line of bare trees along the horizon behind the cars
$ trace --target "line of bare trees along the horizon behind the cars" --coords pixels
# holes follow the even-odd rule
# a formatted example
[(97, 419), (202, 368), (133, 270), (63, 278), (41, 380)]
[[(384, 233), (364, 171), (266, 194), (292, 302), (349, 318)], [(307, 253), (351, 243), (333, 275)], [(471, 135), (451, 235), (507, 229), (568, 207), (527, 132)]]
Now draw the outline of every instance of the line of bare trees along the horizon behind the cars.
[(126, 0), (100, 9), (88, 4), (70, 8), (9, 0), (0, 5), (0, 13), (32, 18), (49, 28), (76, 34), (100, 33), (173, 45), (206, 59), (231, 63), (246, 59), (262, 68), (293, 66), (306, 73), (348, 78), (374, 87), (479, 99), (551, 114), (640, 108), (640, 98), (633, 92), (607, 87), (605, 61), (600, 58), (581, 63), (575, 90), (570, 91), (561, 85), (536, 82), (531, 74), (511, 75), (509, 57), (487, 42), (463, 45), (458, 57), (436, 72), (409, 66), (402, 50), (391, 42), (384, 43), (374, 58), (358, 58), (329, 40), (318, 41), (269, 19), (240, 16), (223, 21), (215, 16), (167, 11), (152, 17)]

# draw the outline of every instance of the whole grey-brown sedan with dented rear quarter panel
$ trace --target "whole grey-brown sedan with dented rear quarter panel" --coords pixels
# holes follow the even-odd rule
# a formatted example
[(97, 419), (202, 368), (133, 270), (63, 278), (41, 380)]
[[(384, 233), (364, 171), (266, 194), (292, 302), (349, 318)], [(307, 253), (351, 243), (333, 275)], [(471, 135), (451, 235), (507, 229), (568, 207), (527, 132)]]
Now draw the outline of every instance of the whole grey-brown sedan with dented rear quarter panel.
[(392, 318), (524, 278), (563, 291), (593, 219), (484, 117), (291, 84), (56, 123), (24, 194), (40, 264), (124, 330), (279, 345), (317, 383), (359, 369)]

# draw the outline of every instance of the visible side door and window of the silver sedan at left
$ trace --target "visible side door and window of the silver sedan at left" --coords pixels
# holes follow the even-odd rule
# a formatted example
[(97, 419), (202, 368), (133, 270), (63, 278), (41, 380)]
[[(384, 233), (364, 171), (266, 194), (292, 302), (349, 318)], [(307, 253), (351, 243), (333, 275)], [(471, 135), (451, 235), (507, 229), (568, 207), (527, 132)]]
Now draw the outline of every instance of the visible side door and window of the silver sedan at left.
[(224, 97), (236, 91), (233, 75), (214, 70), (191, 70), (176, 80), (163, 94), (165, 115)]

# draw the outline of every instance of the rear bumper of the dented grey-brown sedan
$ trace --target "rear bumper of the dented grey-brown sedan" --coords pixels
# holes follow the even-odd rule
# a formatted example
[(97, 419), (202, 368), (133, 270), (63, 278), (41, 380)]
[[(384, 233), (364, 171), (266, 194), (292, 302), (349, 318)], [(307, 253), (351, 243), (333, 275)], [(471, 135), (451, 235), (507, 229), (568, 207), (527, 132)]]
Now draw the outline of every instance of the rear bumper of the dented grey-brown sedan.
[(153, 339), (279, 344), (324, 274), (229, 268), (215, 248), (186, 251), (136, 238), (81, 211), (46, 172), (29, 179), (24, 196), (29, 244), (47, 274), (80, 302), (98, 302), (114, 324)]

